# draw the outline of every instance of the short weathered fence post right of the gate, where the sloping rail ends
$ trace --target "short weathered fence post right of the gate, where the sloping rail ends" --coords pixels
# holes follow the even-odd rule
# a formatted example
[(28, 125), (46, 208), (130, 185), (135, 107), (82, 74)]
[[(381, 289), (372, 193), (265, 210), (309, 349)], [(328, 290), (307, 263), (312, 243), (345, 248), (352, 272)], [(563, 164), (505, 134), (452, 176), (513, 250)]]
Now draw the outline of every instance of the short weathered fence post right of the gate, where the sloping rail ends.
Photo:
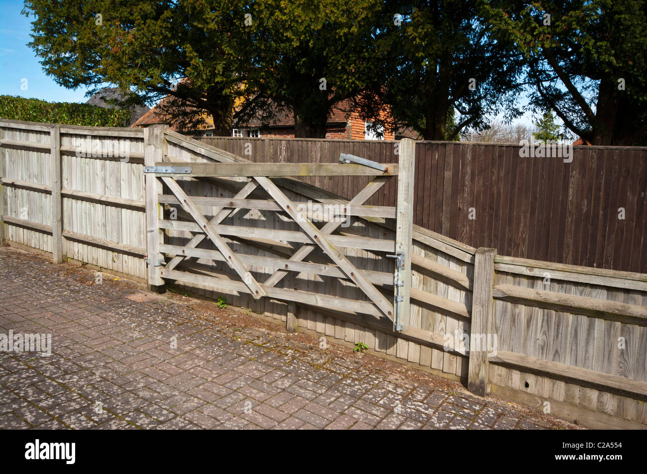
[[(470, 365), (467, 389), (479, 396), (489, 394), (488, 338), (494, 339), (494, 255), (496, 248), (479, 248), (474, 256), (472, 321), (470, 325)], [(477, 349), (477, 350), (474, 350)]]

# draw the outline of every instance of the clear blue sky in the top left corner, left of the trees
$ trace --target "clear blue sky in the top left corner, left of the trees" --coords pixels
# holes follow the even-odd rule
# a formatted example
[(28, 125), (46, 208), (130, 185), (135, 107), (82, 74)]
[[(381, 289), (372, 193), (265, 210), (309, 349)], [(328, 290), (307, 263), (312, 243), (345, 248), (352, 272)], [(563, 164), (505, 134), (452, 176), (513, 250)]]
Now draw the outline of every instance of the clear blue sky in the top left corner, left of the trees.
[[(65, 89), (43, 72), (31, 41), (30, 19), (21, 15), (23, 2), (0, 0), (0, 95), (34, 97), (50, 102), (85, 102), (87, 88)], [(27, 90), (21, 85), (27, 80)]]

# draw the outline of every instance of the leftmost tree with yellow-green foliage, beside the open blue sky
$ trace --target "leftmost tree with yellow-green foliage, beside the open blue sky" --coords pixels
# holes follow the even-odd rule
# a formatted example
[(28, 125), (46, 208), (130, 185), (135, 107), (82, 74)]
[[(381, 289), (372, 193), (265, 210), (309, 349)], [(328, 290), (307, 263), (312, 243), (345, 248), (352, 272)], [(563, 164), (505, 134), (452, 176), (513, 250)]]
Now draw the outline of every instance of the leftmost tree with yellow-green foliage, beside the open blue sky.
[(133, 92), (122, 105), (170, 95), (182, 104), (169, 107), (171, 120), (206, 111), (221, 135), (252, 67), (247, 12), (242, 0), (25, 0), (23, 10), (28, 45), (63, 87), (116, 85)]

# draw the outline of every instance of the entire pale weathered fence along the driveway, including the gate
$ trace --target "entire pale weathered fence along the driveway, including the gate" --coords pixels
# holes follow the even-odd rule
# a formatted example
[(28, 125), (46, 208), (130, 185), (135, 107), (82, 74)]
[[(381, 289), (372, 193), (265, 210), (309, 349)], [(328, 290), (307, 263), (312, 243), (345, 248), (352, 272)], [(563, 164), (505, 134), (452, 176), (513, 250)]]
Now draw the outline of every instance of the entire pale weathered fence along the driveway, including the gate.
[[(457, 378), (474, 393), (498, 394), (587, 426), (647, 426), (647, 275), (503, 257), (410, 226), (417, 208), (404, 192), (402, 169), (407, 160), (413, 169), (419, 164), (406, 142), (397, 159), (380, 160), (399, 165), (397, 206), (371, 209), (364, 198), (395, 178), (362, 173), (372, 174), (373, 184), (357, 178), (364, 184), (349, 188), (355, 189), (349, 202), (302, 180), (275, 177), (313, 171), (312, 164), (250, 168), (242, 156), (159, 126), (1, 121), (0, 129), (0, 232), (12, 244), (145, 278), (151, 286), (175, 281), (206, 297), (226, 295), (228, 304), (289, 328), (363, 342), (377, 354)], [(76, 156), (72, 137), (88, 136), (98, 140), (98, 153)], [(121, 156), (126, 152), (106, 156), (117, 139), (131, 162)], [(270, 156), (271, 142), (259, 144)], [(144, 173), (144, 161), (171, 169)], [(340, 166), (359, 165), (334, 169)], [(332, 169), (320, 174), (329, 178)], [(287, 208), (305, 202), (342, 206), (349, 225), (334, 222), (332, 229), (322, 218), (322, 228), (310, 227)], [(316, 212), (305, 212), (307, 220)], [(314, 229), (327, 244), (316, 242)], [(401, 330), (388, 314), (400, 288), (395, 262), (386, 256), (397, 242), (411, 264), (400, 273), (400, 294), (410, 305)], [(129, 258), (133, 264), (126, 264)]]

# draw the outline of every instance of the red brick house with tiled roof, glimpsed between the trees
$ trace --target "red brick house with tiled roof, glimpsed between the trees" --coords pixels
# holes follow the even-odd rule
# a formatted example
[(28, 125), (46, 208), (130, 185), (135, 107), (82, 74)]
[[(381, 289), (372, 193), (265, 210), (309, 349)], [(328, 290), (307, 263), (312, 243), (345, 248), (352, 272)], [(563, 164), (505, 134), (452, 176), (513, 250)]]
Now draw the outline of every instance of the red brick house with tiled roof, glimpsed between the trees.
[[(166, 100), (166, 99), (162, 99)], [(367, 128), (369, 122), (362, 120), (358, 114), (350, 110), (351, 101), (347, 100), (336, 107), (333, 107), (328, 122), (326, 124), (325, 138), (332, 138), (337, 140), (394, 140), (396, 138), (393, 132), (383, 133), (382, 136), (377, 136), (375, 133)], [(192, 131), (195, 135), (213, 136), (213, 120), (205, 116), (204, 121), (206, 124), (197, 130)], [(146, 127), (153, 124), (169, 124), (171, 129), (174, 130), (173, 124), (170, 124), (168, 118), (160, 113), (159, 105), (150, 109), (144, 116), (142, 116), (133, 127)], [(212, 125), (210, 127), (209, 125)], [(186, 133), (186, 132), (185, 132)], [(280, 113), (270, 124), (262, 124), (259, 121), (252, 121), (248, 124), (241, 125), (232, 129), (232, 136), (248, 136), (248, 137), (261, 137), (261, 136), (278, 136), (285, 138), (294, 138), (294, 117), (292, 113)]]

